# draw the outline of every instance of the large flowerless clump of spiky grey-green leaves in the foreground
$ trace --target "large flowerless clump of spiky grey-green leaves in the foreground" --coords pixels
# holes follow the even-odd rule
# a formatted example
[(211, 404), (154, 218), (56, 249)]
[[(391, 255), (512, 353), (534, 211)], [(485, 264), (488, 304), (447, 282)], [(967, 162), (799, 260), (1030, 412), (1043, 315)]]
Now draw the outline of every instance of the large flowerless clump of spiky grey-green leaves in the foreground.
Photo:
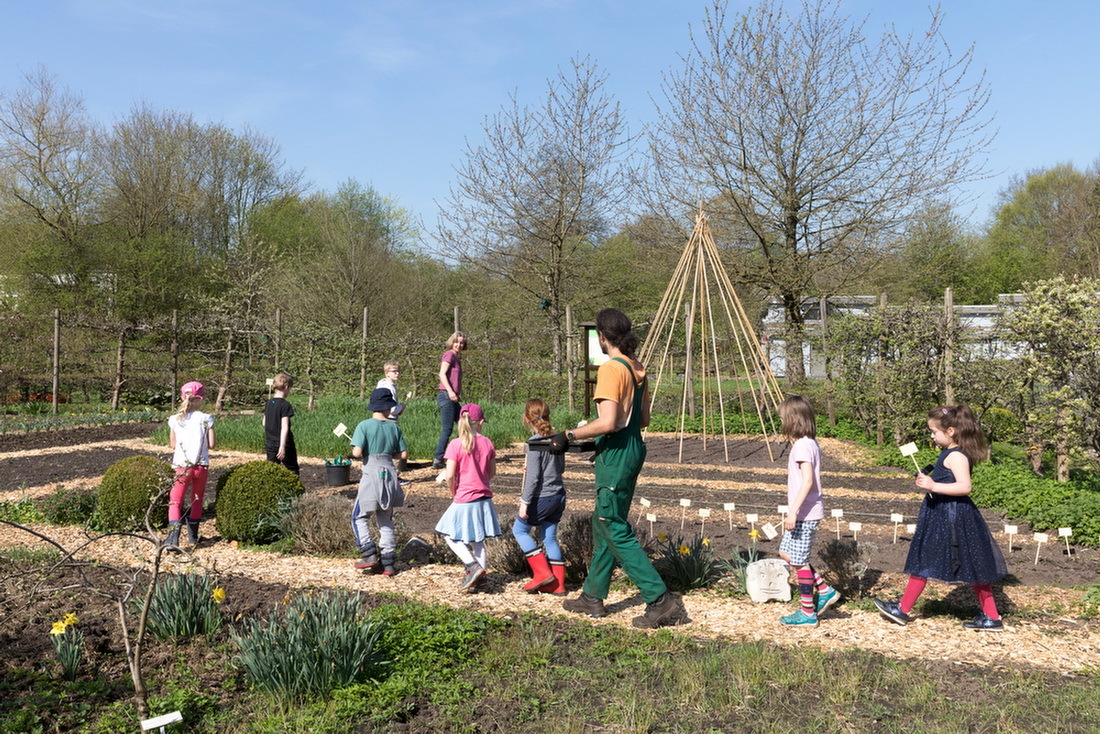
[(249, 679), (292, 702), (377, 680), (388, 665), (375, 650), (382, 627), (363, 614), (358, 593), (341, 590), (300, 595), (230, 637)]

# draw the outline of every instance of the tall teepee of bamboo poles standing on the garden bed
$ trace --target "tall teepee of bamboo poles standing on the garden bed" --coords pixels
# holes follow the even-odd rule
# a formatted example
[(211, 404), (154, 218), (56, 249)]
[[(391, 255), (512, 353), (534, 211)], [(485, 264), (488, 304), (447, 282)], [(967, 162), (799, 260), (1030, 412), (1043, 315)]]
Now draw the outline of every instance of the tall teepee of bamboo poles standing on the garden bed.
[[(747, 406), (759, 416), (768, 456), (776, 460), (771, 440), (778, 431), (772, 416), (782, 393), (752, 322), (722, 266), (702, 209), (638, 357), (657, 373), (651, 398), (656, 398), (668, 374), (684, 376), (678, 426), (680, 461), (684, 421), (689, 413), (694, 416), (696, 395), (702, 403), (703, 448), (708, 435), (721, 434), (725, 459), (729, 461), (726, 405), (734, 399), (727, 395), (730, 392), (736, 392), (743, 416)], [(743, 424), (745, 434), (749, 434), (744, 418)]]

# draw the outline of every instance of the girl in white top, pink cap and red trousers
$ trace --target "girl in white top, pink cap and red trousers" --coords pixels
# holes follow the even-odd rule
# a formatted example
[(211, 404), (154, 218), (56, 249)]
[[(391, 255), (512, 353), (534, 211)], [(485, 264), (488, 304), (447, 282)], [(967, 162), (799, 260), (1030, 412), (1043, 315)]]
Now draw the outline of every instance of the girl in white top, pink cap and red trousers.
[(176, 481), (168, 494), (168, 537), (164, 545), (179, 547), (179, 524), (183, 521), (184, 495), (190, 494), (187, 535), (194, 546), (199, 541), (202, 519), (202, 495), (210, 473), (210, 449), (213, 448), (213, 416), (199, 410), (206, 390), (201, 382), (189, 382), (179, 390), (179, 412), (168, 418), (168, 448)]

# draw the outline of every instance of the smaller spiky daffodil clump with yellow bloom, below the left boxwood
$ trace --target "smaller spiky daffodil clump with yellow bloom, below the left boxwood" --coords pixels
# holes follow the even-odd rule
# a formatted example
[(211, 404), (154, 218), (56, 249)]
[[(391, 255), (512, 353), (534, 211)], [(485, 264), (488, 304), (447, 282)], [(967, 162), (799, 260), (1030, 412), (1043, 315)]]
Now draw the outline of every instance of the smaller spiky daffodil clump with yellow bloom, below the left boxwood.
[[(220, 594), (217, 592), (221, 592)], [(161, 578), (148, 607), (148, 631), (166, 639), (210, 635), (221, 627), (220, 598), (224, 591), (208, 576), (168, 574)], [(141, 602), (135, 600), (140, 609)]]

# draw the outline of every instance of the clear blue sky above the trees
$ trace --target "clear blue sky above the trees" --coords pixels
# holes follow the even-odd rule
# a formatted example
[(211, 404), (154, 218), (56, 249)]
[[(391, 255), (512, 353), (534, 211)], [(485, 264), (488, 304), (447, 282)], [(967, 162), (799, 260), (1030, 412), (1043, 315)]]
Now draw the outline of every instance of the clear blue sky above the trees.
[[(750, 3), (734, 0), (730, 8)], [(486, 116), (515, 92), (537, 102), (546, 79), (591, 55), (635, 130), (654, 119), (662, 74), (690, 48), (701, 0), (8, 0), (0, 90), (44, 65), (91, 116), (136, 103), (250, 125), (273, 138), (315, 189), (354, 178), (429, 229)], [(988, 180), (964, 211), (987, 221), (1013, 176), (1100, 158), (1100, 3), (945, 0), (944, 35), (975, 44), (999, 135)], [(878, 35), (927, 28), (920, 1), (843, 0)]]

